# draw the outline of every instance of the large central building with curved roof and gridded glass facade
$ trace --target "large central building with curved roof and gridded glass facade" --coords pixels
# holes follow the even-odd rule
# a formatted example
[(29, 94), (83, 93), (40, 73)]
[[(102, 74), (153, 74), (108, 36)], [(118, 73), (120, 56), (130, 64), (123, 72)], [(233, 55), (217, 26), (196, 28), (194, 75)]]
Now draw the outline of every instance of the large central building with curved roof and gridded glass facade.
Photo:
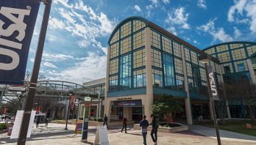
[[(210, 119), (204, 64), (205, 54), (156, 24), (130, 17), (115, 27), (108, 41), (104, 114), (110, 119), (138, 121), (150, 116), (153, 101), (163, 94), (184, 104), (177, 117), (192, 124), (203, 116)], [(218, 86), (223, 86), (218, 59), (210, 65)]]

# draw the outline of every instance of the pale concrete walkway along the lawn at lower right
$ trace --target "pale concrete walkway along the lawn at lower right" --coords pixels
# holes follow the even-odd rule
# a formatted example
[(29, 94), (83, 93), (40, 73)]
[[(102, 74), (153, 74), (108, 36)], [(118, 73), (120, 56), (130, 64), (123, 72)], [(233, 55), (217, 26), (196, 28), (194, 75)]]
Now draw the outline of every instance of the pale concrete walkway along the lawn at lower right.
[[(188, 126), (189, 130), (194, 133), (199, 133), (201, 135), (208, 136), (210, 138), (216, 139), (216, 130), (212, 127), (205, 127), (201, 125), (191, 125)], [(243, 141), (252, 142), (256, 144), (256, 137), (251, 135), (243, 135), (241, 133), (234, 133), (226, 130), (219, 130), (221, 141)]]

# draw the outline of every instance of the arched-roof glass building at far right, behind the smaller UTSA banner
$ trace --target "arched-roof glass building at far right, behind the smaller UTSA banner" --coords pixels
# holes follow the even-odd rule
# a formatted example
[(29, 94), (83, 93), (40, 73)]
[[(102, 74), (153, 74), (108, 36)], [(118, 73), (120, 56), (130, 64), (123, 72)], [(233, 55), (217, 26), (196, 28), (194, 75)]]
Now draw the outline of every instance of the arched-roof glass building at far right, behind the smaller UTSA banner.
[[(226, 84), (227, 97), (234, 97), (229, 92), (228, 85), (240, 82), (246, 78), (249, 83), (256, 84), (256, 43), (255, 42), (225, 42), (205, 48), (203, 51), (219, 60), (221, 74)], [(241, 84), (243, 86), (243, 84)], [(232, 89), (232, 88), (230, 88)], [(245, 88), (240, 88), (245, 89)], [(233, 91), (233, 90), (230, 90)], [(240, 94), (240, 93), (237, 93)], [(244, 101), (228, 101), (230, 117), (249, 118)]]

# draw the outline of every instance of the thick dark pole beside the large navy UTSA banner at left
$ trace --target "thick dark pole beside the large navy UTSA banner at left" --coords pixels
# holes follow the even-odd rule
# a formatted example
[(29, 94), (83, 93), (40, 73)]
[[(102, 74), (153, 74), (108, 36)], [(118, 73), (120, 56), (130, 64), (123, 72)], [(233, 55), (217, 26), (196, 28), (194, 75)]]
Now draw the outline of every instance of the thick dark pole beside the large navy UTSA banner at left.
[(38, 41), (38, 50), (35, 54), (35, 62), (34, 62), (34, 67), (32, 71), (32, 78), (29, 86), (29, 93), (27, 95), (27, 99), (25, 103), (26, 106), (24, 109), (24, 116), (21, 122), (21, 130), (18, 135), (18, 142), (17, 142), (18, 145), (26, 144), (26, 134), (29, 128), (29, 119), (32, 111), (32, 105), (34, 103), (36, 84), (38, 83), (38, 74), (39, 74), (40, 63), (41, 63), (42, 54), (43, 54), (43, 46), (46, 40), (46, 30), (47, 30), (50, 10), (51, 10), (51, 0), (48, 0), (44, 4), (46, 5), (46, 7), (43, 13), (43, 21), (41, 24), (39, 41)]

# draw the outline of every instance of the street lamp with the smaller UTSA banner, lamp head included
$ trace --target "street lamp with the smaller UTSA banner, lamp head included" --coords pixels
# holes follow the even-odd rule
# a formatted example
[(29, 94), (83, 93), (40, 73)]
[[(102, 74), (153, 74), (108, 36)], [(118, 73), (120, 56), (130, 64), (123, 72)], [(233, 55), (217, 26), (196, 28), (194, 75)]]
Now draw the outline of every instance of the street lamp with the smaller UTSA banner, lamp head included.
[(213, 122), (214, 122), (214, 127), (216, 130), (216, 137), (217, 137), (218, 145), (221, 145), (221, 138), (220, 138), (220, 135), (218, 132), (218, 122), (216, 119), (216, 111), (215, 111), (215, 106), (214, 106), (214, 100), (219, 100), (219, 98), (218, 98), (218, 92), (217, 92), (217, 87), (216, 87), (216, 81), (214, 80), (214, 75), (213, 75), (213, 67), (210, 67), (207, 65), (207, 63), (209, 63), (210, 60), (212, 60), (212, 56), (210, 56), (208, 54), (199, 56), (199, 61), (205, 64), (207, 88), (208, 88), (209, 97), (210, 97), (211, 110), (213, 112)]

